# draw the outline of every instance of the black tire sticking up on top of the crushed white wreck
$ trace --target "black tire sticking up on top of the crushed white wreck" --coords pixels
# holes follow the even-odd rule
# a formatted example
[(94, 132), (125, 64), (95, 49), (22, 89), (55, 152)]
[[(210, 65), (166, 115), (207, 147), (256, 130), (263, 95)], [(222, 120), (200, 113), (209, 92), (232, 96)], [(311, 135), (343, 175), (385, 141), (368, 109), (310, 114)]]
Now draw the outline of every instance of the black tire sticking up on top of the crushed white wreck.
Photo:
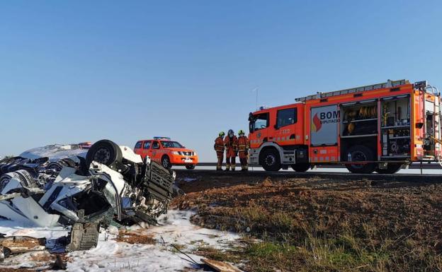
[(86, 154), (86, 165), (90, 167), (92, 161), (115, 168), (123, 160), (120, 146), (113, 141), (101, 140), (94, 143)]

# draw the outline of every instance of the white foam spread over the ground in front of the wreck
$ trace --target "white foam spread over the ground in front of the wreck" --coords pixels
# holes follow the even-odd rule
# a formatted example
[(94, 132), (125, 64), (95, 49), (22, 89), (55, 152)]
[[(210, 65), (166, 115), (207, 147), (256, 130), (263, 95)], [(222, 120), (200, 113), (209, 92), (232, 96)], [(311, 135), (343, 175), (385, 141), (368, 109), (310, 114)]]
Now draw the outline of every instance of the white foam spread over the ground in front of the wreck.
[[(210, 246), (215, 248), (228, 248), (239, 235), (232, 232), (209, 230), (193, 225), (190, 221), (194, 215), (192, 211), (169, 211), (159, 218), (157, 227), (142, 229), (140, 227), (128, 227), (129, 230), (137, 230), (142, 235), (151, 235), (156, 244), (128, 244), (116, 242), (116, 235), (109, 235), (102, 232), (98, 238), (98, 246), (86, 251), (71, 252), (72, 259), (67, 264), (67, 271), (72, 272), (108, 272), (108, 271), (183, 271), (184, 268), (196, 268), (188, 261), (183, 254), (172, 251), (171, 244), (179, 245), (191, 258), (200, 263), (201, 256), (191, 254), (199, 246)], [(33, 237), (55, 238), (64, 236), (62, 228), (22, 228), (13, 227), (13, 223), (6, 224), (7, 220), (0, 220), (0, 232), (13, 235), (21, 231), (20, 235), (26, 233)], [(112, 231), (115, 233), (114, 231)], [(165, 244), (162, 242), (164, 240)], [(32, 264), (30, 254), (22, 254), (14, 257), (16, 264)], [(17, 263), (18, 262), (18, 263)], [(18, 267), (18, 266), (15, 266)]]

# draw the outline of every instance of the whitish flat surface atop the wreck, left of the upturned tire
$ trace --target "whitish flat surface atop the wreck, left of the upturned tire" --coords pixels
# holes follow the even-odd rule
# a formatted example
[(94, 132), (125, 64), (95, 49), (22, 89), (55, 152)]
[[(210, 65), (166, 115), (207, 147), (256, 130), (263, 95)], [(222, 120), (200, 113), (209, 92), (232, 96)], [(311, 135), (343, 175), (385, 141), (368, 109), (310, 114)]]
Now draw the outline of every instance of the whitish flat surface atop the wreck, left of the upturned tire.
[(60, 160), (64, 158), (74, 158), (77, 156), (86, 158), (87, 149), (81, 149), (78, 145), (50, 145), (40, 148), (32, 148), (21, 153), (23, 158), (37, 159), (48, 157), (50, 160)]

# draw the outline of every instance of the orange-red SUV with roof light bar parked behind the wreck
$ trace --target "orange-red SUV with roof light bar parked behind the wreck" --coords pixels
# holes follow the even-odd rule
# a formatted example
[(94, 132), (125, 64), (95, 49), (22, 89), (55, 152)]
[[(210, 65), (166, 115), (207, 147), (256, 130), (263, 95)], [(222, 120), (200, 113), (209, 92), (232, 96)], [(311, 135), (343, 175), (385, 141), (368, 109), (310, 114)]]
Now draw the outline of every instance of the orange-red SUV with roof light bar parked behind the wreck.
[(193, 170), (198, 164), (198, 155), (194, 150), (182, 146), (177, 141), (167, 137), (154, 137), (150, 140), (140, 140), (135, 144), (134, 152), (144, 159), (149, 156), (151, 160), (160, 163), (165, 168), (172, 165), (184, 165), (188, 170)]

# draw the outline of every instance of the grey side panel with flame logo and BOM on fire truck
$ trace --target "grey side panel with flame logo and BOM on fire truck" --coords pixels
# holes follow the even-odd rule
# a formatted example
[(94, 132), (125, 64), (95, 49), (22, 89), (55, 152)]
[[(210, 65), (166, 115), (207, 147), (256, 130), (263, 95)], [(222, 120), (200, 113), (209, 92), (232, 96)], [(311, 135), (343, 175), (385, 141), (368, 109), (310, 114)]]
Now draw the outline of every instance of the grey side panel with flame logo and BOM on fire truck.
[(338, 105), (312, 107), (310, 118), (312, 146), (335, 146), (338, 143)]

